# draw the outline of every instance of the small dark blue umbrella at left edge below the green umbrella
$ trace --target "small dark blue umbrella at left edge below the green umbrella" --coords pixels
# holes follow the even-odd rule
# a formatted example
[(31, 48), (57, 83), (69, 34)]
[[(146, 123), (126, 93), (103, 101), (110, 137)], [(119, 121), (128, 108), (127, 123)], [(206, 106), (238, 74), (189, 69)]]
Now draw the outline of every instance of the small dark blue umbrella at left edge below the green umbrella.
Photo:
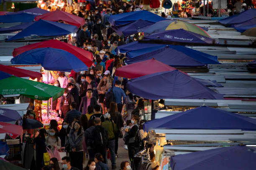
[(21, 119), (17, 110), (0, 108), (0, 122), (11, 122)]

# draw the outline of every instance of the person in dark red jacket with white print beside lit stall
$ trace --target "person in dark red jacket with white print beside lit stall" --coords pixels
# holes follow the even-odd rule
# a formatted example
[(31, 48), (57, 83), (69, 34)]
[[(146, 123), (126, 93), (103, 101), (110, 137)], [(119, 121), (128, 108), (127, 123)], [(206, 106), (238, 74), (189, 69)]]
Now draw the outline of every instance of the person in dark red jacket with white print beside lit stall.
[(70, 111), (70, 103), (74, 102), (74, 97), (69, 93), (69, 89), (65, 88), (64, 94), (61, 96), (59, 102), (59, 114), (65, 118), (67, 112)]

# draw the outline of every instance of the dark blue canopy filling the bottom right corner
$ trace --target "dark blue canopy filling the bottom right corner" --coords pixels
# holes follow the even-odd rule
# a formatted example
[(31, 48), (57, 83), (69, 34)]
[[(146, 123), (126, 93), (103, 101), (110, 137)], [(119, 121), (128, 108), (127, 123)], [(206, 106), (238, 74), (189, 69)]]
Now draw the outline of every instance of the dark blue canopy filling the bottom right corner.
[(172, 170), (253, 170), (255, 160), (255, 148), (230, 146), (172, 156), (170, 167)]

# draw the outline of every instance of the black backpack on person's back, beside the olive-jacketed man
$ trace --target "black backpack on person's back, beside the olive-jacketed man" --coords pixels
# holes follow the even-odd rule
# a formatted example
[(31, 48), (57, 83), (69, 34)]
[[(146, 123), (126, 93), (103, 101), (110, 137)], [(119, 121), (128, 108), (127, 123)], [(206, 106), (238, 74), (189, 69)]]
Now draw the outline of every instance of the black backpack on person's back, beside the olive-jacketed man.
[(105, 138), (105, 132), (104, 130), (101, 131), (100, 128), (95, 127), (92, 130), (92, 136), (93, 136), (93, 140), (90, 140), (90, 146), (92, 146), (93, 148), (98, 148), (98, 147), (102, 147), (105, 146), (108, 139)]

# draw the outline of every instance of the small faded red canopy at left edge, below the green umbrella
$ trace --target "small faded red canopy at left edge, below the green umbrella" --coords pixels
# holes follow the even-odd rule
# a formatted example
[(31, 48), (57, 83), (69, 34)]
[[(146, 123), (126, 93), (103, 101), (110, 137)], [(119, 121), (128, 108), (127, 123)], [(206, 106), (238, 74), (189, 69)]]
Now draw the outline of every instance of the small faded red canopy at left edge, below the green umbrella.
[(18, 125), (0, 122), (0, 133), (7, 133), (11, 138), (15, 139), (17, 136), (23, 134), (23, 129)]

